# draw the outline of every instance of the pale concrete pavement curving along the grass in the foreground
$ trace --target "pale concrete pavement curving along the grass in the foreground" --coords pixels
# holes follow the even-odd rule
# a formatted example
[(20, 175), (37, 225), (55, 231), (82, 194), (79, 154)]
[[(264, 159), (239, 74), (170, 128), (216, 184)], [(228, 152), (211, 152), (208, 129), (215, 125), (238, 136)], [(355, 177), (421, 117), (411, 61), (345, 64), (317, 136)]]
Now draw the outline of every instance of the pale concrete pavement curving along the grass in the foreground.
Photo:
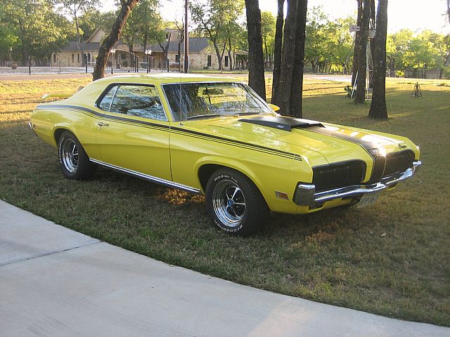
[(0, 200), (0, 335), (450, 336), (120, 249)]

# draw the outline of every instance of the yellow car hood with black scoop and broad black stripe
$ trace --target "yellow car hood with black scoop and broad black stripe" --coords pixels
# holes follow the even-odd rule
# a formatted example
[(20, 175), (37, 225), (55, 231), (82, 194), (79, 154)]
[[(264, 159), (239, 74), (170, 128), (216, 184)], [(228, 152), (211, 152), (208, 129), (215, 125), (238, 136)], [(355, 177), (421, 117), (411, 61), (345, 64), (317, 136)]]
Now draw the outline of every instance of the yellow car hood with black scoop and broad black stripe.
[(368, 158), (371, 149), (386, 154), (406, 147), (401, 137), (292, 117), (219, 117), (187, 122), (186, 126), (292, 152), (311, 166)]

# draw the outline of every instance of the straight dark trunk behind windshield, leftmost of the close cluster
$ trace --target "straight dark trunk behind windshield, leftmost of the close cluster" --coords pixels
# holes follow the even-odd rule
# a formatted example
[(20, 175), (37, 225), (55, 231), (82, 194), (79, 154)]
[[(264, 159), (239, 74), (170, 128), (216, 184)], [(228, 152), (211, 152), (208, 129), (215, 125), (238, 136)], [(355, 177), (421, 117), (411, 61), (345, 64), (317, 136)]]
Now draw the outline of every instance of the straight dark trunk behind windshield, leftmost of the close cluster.
[(248, 85), (263, 100), (266, 100), (259, 1), (245, 0), (245, 13), (248, 30)]

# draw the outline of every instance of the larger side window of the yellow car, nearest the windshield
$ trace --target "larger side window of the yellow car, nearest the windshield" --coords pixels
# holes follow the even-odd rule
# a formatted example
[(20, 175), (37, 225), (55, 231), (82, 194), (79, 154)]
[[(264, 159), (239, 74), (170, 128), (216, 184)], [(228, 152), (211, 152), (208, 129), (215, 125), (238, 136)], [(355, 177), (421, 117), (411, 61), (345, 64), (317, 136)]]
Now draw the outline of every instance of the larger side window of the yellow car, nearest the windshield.
[(119, 86), (110, 112), (167, 121), (158, 91), (154, 86)]

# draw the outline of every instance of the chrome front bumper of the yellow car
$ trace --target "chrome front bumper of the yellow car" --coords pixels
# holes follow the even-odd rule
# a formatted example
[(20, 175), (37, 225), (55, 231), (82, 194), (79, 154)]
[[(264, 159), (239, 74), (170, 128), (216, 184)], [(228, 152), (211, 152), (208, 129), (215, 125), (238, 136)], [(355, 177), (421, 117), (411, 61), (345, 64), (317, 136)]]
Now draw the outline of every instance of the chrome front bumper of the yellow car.
[(334, 190), (316, 192), (314, 184), (299, 183), (295, 190), (294, 202), (298, 206), (320, 206), (325, 201), (333, 199), (346, 199), (361, 197), (363, 194), (375, 193), (386, 190), (389, 187), (394, 187), (397, 183), (409, 179), (414, 176), (422, 163), (420, 161), (413, 161), (413, 167), (407, 169), (404, 173), (399, 173), (394, 176), (381, 179), (380, 183), (370, 185), (352, 185), (347, 187), (340, 187)]

